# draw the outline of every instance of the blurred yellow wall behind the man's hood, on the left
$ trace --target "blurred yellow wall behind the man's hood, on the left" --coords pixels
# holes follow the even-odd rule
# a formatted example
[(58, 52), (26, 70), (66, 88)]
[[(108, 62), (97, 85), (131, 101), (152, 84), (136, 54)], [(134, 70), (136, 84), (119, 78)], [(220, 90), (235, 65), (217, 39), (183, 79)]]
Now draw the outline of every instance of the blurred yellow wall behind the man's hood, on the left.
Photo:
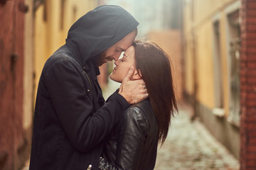
[[(97, 0), (63, 0), (63, 2), (63, 28), (60, 24), (62, 0), (46, 0), (35, 13), (34, 69), (36, 91), (43, 64), (55, 50), (65, 44), (70, 26), (97, 6)], [(46, 20), (44, 20), (44, 11), (46, 11)]]

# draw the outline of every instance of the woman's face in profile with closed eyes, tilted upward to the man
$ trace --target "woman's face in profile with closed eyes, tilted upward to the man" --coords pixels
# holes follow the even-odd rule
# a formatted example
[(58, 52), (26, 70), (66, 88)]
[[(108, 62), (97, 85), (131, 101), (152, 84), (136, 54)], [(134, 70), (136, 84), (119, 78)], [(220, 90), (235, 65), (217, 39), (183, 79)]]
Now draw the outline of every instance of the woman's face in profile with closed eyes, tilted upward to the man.
[(112, 74), (110, 74), (110, 79), (121, 83), (124, 77), (127, 75), (130, 67), (133, 66), (134, 70), (136, 70), (134, 55), (134, 46), (128, 47), (127, 50), (124, 52), (123, 57), (114, 62), (116, 67), (114, 67)]

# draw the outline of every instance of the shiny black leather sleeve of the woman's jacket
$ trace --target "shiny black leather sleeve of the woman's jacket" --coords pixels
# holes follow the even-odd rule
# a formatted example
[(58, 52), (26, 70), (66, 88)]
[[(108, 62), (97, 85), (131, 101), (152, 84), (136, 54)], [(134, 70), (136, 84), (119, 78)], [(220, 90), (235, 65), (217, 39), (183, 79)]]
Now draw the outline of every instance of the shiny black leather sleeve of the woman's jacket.
[(137, 107), (128, 108), (124, 120), (120, 120), (117, 130), (117, 151), (114, 164), (100, 159), (102, 169), (137, 170), (142, 162), (142, 151), (146, 140), (147, 123), (141, 110)]

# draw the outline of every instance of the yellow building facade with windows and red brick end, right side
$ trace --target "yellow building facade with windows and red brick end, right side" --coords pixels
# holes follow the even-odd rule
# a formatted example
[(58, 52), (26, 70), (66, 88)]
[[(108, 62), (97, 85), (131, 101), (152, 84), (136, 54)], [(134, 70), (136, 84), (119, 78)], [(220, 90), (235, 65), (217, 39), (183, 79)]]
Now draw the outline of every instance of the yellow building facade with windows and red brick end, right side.
[(183, 1), (183, 91), (210, 132), (256, 169), (255, 1)]

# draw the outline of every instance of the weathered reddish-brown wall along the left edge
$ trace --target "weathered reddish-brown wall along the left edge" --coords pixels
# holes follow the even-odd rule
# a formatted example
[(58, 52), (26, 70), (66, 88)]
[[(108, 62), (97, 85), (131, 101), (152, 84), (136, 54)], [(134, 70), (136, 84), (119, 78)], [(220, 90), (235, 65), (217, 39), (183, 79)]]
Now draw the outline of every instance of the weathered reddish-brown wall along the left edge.
[(24, 0), (0, 1), (0, 169), (19, 169), (30, 147), (23, 130)]

